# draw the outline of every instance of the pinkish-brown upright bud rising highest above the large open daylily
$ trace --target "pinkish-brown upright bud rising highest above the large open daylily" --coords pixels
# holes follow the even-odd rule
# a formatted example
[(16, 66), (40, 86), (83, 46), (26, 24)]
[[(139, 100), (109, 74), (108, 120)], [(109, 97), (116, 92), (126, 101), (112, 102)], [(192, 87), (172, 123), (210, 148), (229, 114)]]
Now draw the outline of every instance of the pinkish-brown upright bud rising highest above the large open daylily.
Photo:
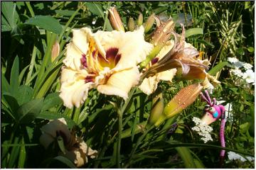
[(122, 30), (124, 31), (124, 26), (122, 24), (122, 20), (119, 16), (119, 13), (117, 12), (117, 9), (115, 7), (112, 7), (108, 9), (109, 14), (108, 18), (110, 20), (110, 24), (114, 30)]

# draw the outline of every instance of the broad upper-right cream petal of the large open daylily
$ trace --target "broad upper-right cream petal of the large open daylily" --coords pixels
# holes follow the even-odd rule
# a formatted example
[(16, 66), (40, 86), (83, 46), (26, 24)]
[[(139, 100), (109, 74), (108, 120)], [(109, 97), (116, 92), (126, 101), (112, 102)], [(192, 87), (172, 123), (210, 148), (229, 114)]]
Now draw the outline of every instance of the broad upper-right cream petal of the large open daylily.
[(129, 68), (146, 59), (153, 45), (144, 40), (144, 28), (141, 26), (133, 32), (113, 30), (111, 32), (97, 31), (95, 38), (105, 50), (117, 47), (121, 58), (117, 67)]

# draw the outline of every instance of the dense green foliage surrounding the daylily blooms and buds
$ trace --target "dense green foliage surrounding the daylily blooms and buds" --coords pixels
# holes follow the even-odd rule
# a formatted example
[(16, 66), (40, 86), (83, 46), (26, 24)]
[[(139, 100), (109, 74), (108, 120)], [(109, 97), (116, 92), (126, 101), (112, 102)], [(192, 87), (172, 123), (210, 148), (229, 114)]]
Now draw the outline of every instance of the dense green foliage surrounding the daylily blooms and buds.
[[(161, 81), (156, 93), (150, 96), (134, 88), (126, 103), (122, 98), (92, 89), (79, 108), (63, 106), (59, 77), (71, 30), (112, 30), (107, 18), (110, 6), (116, 6), (125, 28), (129, 18), (137, 22), (139, 13), (144, 22), (152, 13), (163, 21), (172, 17), (177, 33), (181, 33), (183, 23), (186, 42), (201, 52), (202, 59), (210, 61), (209, 73), (221, 82), (211, 96), (223, 101), (224, 106), (232, 106), (226, 112), (227, 154), (223, 167), (254, 168), (254, 161), (247, 160), (255, 152), (254, 85), (247, 78), (240, 82), (241, 78), (230, 72), (234, 63), (228, 62), (229, 57), (236, 57), (254, 65), (255, 4), (248, 1), (1, 2), (1, 168), (75, 167), (67, 158), (58, 156), (58, 151), (40, 145), (42, 126), (58, 118), (65, 118), (68, 127), (98, 152), (97, 158), (89, 159), (82, 168), (219, 167), (220, 122), (211, 125), (213, 141), (206, 144), (191, 130), (192, 118), (200, 118), (205, 106), (200, 98), (159, 127), (144, 127), (152, 98), (159, 91), (166, 105), (194, 81)], [(154, 23), (149, 33), (155, 27)], [(60, 53), (52, 57), (56, 41)], [(123, 113), (120, 136), (118, 107)], [(230, 160), (229, 151), (246, 160)]]

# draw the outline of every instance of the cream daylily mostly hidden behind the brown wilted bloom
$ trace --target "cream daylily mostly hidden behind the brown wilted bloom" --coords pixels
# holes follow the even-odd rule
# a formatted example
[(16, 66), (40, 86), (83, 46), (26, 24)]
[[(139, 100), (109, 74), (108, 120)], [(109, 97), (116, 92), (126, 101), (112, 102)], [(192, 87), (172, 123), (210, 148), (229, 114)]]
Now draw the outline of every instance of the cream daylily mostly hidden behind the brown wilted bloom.
[[(148, 68), (151, 67), (151, 65), (154, 65), (158, 60), (161, 60), (161, 58), (164, 57), (173, 47), (174, 41), (170, 40), (166, 42), (166, 45), (161, 49), (159, 54), (156, 55), (156, 57), (154, 57), (151, 63), (149, 63)], [(142, 84), (139, 86), (139, 89), (141, 89), (144, 92), (144, 94), (150, 95), (154, 91), (156, 91), (157, 84), (159, 83), (160, 80), (171, 82), (176, 72), (177, 69), (169, 69), (164, 72), (156, 73), (152, 77), (147, 77), (142, 81)]]

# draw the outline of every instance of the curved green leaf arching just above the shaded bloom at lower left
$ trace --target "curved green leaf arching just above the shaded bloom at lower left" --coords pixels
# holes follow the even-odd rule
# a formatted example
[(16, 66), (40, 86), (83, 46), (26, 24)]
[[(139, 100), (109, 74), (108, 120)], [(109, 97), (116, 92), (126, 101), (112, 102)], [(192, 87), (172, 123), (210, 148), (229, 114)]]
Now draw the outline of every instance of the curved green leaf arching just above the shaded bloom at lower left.
[(67, 124), (68, 124), (68, 128), (73, 128), (76, 124), (75, 122), (70, 119), (68, 116), (65, 116), (63, 114), (60, 113), (52, 113), (50, 111), (44, 111), (42, 113), (40, 113), (39, 115), (37, 115), (36, 118), (41, 118), (41, 119), (46, 119), (46, 120), (54, 120), (54, 119), (58, 119), (58, 118), (65, 118)]

